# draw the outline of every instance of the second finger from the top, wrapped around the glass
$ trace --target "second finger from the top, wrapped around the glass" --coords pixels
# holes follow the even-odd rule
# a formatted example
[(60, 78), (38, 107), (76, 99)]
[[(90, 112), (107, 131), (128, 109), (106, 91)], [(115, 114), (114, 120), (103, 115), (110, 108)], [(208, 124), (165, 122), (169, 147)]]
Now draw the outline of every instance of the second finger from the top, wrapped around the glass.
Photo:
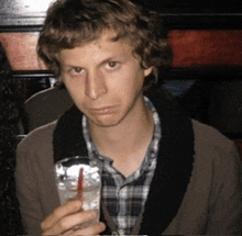
[(69, 229), (73, 229), (76, 225), (81, 225), (86, 222), (94, 221), (97, 218), (98, 214), (96, 211), (82, 211), (77, 212), (72, 215), (67, 215), (58, 220), (47, 228), (43, 235), (56, 235), (67, 233)]

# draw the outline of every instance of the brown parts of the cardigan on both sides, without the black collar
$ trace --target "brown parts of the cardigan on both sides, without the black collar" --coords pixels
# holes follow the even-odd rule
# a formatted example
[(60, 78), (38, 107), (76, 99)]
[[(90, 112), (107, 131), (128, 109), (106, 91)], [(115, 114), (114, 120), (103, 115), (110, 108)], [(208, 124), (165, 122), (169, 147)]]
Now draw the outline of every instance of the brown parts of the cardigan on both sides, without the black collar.
[[(28, 234), (59, 205), (54, 179), (53, 131), (56, 122), (32, 132), (18, 147), (16, 192)], [(194, 121), (195, 162), (182, 205), (164, 235), (240, 235), (242, 167), (231, 141)]]

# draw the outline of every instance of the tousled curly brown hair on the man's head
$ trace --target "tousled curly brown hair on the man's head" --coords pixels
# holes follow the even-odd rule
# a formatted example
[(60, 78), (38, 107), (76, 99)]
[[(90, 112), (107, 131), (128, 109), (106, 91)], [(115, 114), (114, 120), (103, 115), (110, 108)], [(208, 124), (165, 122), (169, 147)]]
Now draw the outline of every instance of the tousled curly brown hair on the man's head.
[(59, 77), (59, 52), (98, 40), (105, 30), (117, 33), (113, 41), (130, 40), (142, 68), (170, 63), (162, 15), (131, 0), (57, 0), (47, 11), (37, 54)]

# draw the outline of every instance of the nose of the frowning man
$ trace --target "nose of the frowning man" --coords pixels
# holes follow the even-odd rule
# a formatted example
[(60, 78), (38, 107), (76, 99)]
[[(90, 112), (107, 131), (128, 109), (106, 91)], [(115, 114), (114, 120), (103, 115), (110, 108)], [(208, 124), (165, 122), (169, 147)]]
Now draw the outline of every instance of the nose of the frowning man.
[(96, 100), (99, 97), (106, 94), (108, 91), (106, 85), (106, 78), (101, 71), (88, 72), (86, 77), (85, 94)]

